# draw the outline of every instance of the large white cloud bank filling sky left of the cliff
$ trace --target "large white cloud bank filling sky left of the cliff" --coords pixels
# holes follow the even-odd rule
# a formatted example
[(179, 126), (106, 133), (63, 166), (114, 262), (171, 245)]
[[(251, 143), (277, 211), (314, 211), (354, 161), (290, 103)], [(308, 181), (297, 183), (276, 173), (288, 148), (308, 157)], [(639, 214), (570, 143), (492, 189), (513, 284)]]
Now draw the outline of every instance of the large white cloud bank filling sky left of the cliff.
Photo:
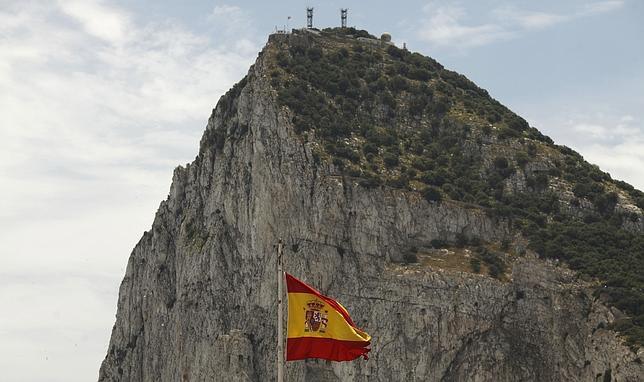
[(99, 1), (5, 4), (0, 369), (95, 380), (127, 257), (259, 43), (251, 28), (212, 41)]

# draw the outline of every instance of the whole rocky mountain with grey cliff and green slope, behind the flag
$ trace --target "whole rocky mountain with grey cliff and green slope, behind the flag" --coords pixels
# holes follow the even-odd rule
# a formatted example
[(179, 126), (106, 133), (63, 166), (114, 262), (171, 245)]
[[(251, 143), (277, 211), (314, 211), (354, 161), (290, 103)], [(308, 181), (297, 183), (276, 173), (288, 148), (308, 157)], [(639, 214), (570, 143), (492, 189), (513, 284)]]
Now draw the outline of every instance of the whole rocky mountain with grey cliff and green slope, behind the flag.
[(368, 361), (289, 381), (637, 381), (644, 193), (353, 28), (271, 35), (130, 256), (99, 381), (275, 377), (275, 244)]

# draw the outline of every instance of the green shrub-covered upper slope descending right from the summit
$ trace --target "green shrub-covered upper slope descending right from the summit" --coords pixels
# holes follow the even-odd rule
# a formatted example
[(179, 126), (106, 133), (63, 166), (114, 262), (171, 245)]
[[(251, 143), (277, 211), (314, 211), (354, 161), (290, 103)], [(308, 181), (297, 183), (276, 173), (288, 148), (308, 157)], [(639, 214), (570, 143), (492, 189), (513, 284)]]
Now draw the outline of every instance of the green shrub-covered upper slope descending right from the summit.
[[(628, 315), (614, 328), (644, 344), (644, 193), (555, 145), (465, 76), (365, 31), (299, 32), (267, 53), (278, 102), (318, 161), (364, 187), (508, 222), (540, 256), (601, 280), (598, 296)], [(481, 264), (494, 277), (505, 271), (494, 252), (477, 253), (472, 269)]]

